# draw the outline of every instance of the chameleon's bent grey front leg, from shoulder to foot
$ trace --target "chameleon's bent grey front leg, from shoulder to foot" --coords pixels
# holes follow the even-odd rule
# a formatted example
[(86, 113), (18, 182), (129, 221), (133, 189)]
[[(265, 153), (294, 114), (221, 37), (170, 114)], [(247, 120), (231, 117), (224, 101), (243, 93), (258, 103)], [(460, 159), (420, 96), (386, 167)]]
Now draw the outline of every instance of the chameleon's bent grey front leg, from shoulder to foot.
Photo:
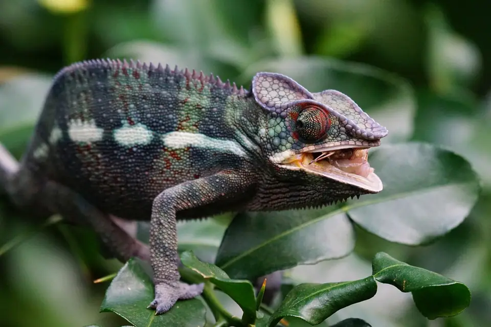
[(234, 197), (252, 184), (253, 179), (247, 172), (221, 171), (173, 186), (154, 199), (149, 244), (155, 299), (149, 308), (162, 314), (178, 299), (193, 298), (203, 291), (203, 284), (188, 285), (179, 281), (176, 213), (216, 202), (216, 205), (233, 203), (237, 201)]

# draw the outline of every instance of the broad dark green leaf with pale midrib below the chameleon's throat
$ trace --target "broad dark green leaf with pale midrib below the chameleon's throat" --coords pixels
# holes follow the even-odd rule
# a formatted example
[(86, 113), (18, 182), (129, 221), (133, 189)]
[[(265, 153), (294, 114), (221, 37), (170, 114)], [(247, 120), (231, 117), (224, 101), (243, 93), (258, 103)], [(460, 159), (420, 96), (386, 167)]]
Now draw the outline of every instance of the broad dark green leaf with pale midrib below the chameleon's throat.
[(252, 279), (341, 258), (353, 250), (354, 232), (334, 209), (239, 214), (225, 232), (216, 265), (234, 278)]

